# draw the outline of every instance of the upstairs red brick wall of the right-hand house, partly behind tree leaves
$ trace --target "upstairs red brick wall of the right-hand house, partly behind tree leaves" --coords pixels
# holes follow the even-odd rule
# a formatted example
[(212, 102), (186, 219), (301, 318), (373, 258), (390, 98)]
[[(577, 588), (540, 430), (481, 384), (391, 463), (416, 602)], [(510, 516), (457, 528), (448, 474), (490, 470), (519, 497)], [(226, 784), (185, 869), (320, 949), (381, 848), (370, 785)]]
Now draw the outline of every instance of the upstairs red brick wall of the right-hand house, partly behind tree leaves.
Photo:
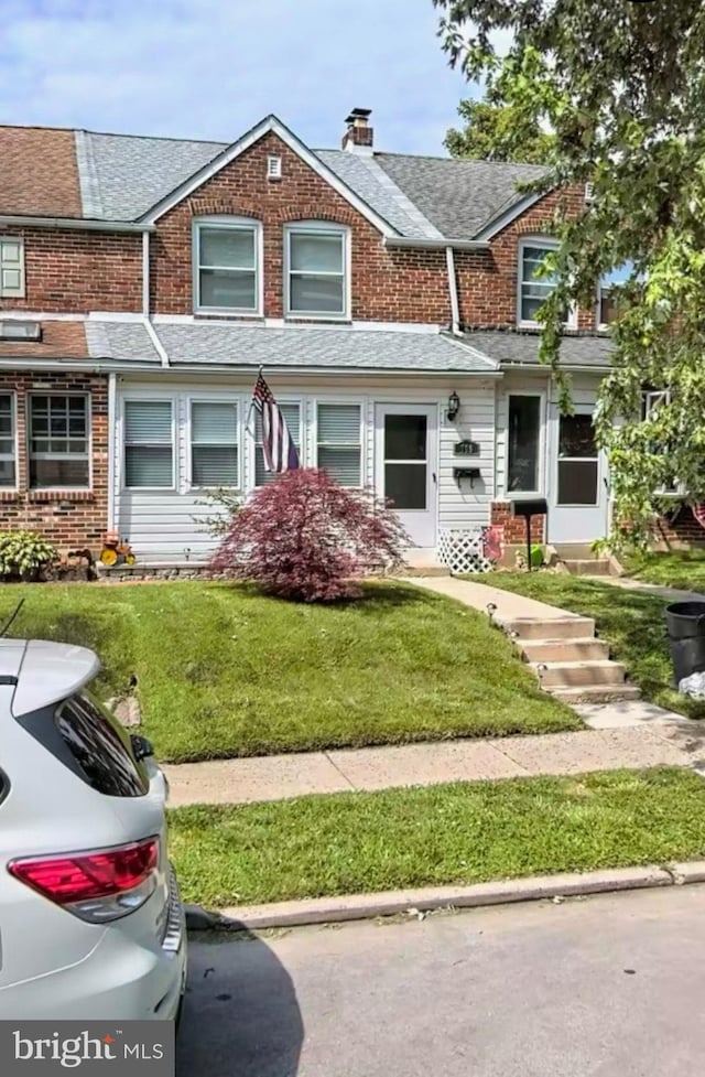
[[(460, 321), (464, 325), (517, 324), (519, 240), (527, 235), (550, 235), (556, 209), (568, 214), (583, 208), (583, 192), (552, 193), (513, 220), (488, 251), (456, 251)], [(578, 329), (595, 329), (595, 310), (582, 310)]]

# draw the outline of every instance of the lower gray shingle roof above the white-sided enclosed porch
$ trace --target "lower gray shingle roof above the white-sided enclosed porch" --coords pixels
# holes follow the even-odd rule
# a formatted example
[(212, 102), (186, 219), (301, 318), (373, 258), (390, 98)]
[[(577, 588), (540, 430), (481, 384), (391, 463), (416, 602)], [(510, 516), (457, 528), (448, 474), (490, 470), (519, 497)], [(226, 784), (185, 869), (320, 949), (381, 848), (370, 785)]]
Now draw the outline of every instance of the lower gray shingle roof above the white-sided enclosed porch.
[[(276, 366), (301, 369), (490, 374), (496, 364), (441, 333), (351, 329), (268, 329), (226, 323), (154, 325), (173, 366)], [(90, 355), (124, 362), (156, 358), (147, 330), (131, 322), (87, 322)]]

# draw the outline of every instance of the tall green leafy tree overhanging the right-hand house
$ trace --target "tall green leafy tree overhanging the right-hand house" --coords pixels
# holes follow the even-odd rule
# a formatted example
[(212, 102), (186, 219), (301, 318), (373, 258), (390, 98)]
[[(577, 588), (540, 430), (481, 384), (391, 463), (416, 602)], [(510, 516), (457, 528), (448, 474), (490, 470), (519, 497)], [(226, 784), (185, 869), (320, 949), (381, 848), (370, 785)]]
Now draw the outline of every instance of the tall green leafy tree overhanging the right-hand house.
[[(574, 218), (558, 209), (555, 292), (541, 312), (542, 358), (561, 371), (563, 312), (593, 308), (625, 263), (611, 371), (597, 435), (617, 521), (646, 540), (674, 484), (705, 502), (705, 6), (699, 0), (433, 0), (453, 65), (490, 99), (555, 132), (536, 192), (593, 184)], [(492, 45), (509, 31), (505, 56)], [(664, 390), (643, 410), (644, 389)], [(671, 503), (672, 504), (672, 503)]]

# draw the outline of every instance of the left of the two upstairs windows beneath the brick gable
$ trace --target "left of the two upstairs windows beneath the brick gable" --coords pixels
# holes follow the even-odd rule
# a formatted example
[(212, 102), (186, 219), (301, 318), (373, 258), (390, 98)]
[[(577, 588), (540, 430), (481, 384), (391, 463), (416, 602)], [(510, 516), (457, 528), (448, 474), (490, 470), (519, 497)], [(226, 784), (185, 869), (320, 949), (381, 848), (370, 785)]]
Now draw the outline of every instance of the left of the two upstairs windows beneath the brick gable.
[(202, 217), (194, 225), (194, 305), (203, 314), (262, 313), (258, 222)]

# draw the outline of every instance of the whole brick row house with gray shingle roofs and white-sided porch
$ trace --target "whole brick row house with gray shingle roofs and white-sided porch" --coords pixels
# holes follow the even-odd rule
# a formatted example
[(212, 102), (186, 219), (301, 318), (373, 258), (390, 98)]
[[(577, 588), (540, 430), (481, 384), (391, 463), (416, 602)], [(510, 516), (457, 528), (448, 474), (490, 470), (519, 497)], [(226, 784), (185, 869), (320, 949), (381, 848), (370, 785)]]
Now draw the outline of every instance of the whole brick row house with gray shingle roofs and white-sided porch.
[[(270, 481), (258, 368), (302, 463), (391, 497), (415, 547), (545, 497), (535, 537), (607, 534), (592, 416), (618, 280), (573, 311), (575, 414), (539, 364), (556, 198), (535, 166), (340, 150), (274, 117), (230, 146), (0, 129), (0, 513), (61, 548), (119, 530), (198, 561), (204, 493)], [(582, 195), (572, 195), (579, 198)]]

